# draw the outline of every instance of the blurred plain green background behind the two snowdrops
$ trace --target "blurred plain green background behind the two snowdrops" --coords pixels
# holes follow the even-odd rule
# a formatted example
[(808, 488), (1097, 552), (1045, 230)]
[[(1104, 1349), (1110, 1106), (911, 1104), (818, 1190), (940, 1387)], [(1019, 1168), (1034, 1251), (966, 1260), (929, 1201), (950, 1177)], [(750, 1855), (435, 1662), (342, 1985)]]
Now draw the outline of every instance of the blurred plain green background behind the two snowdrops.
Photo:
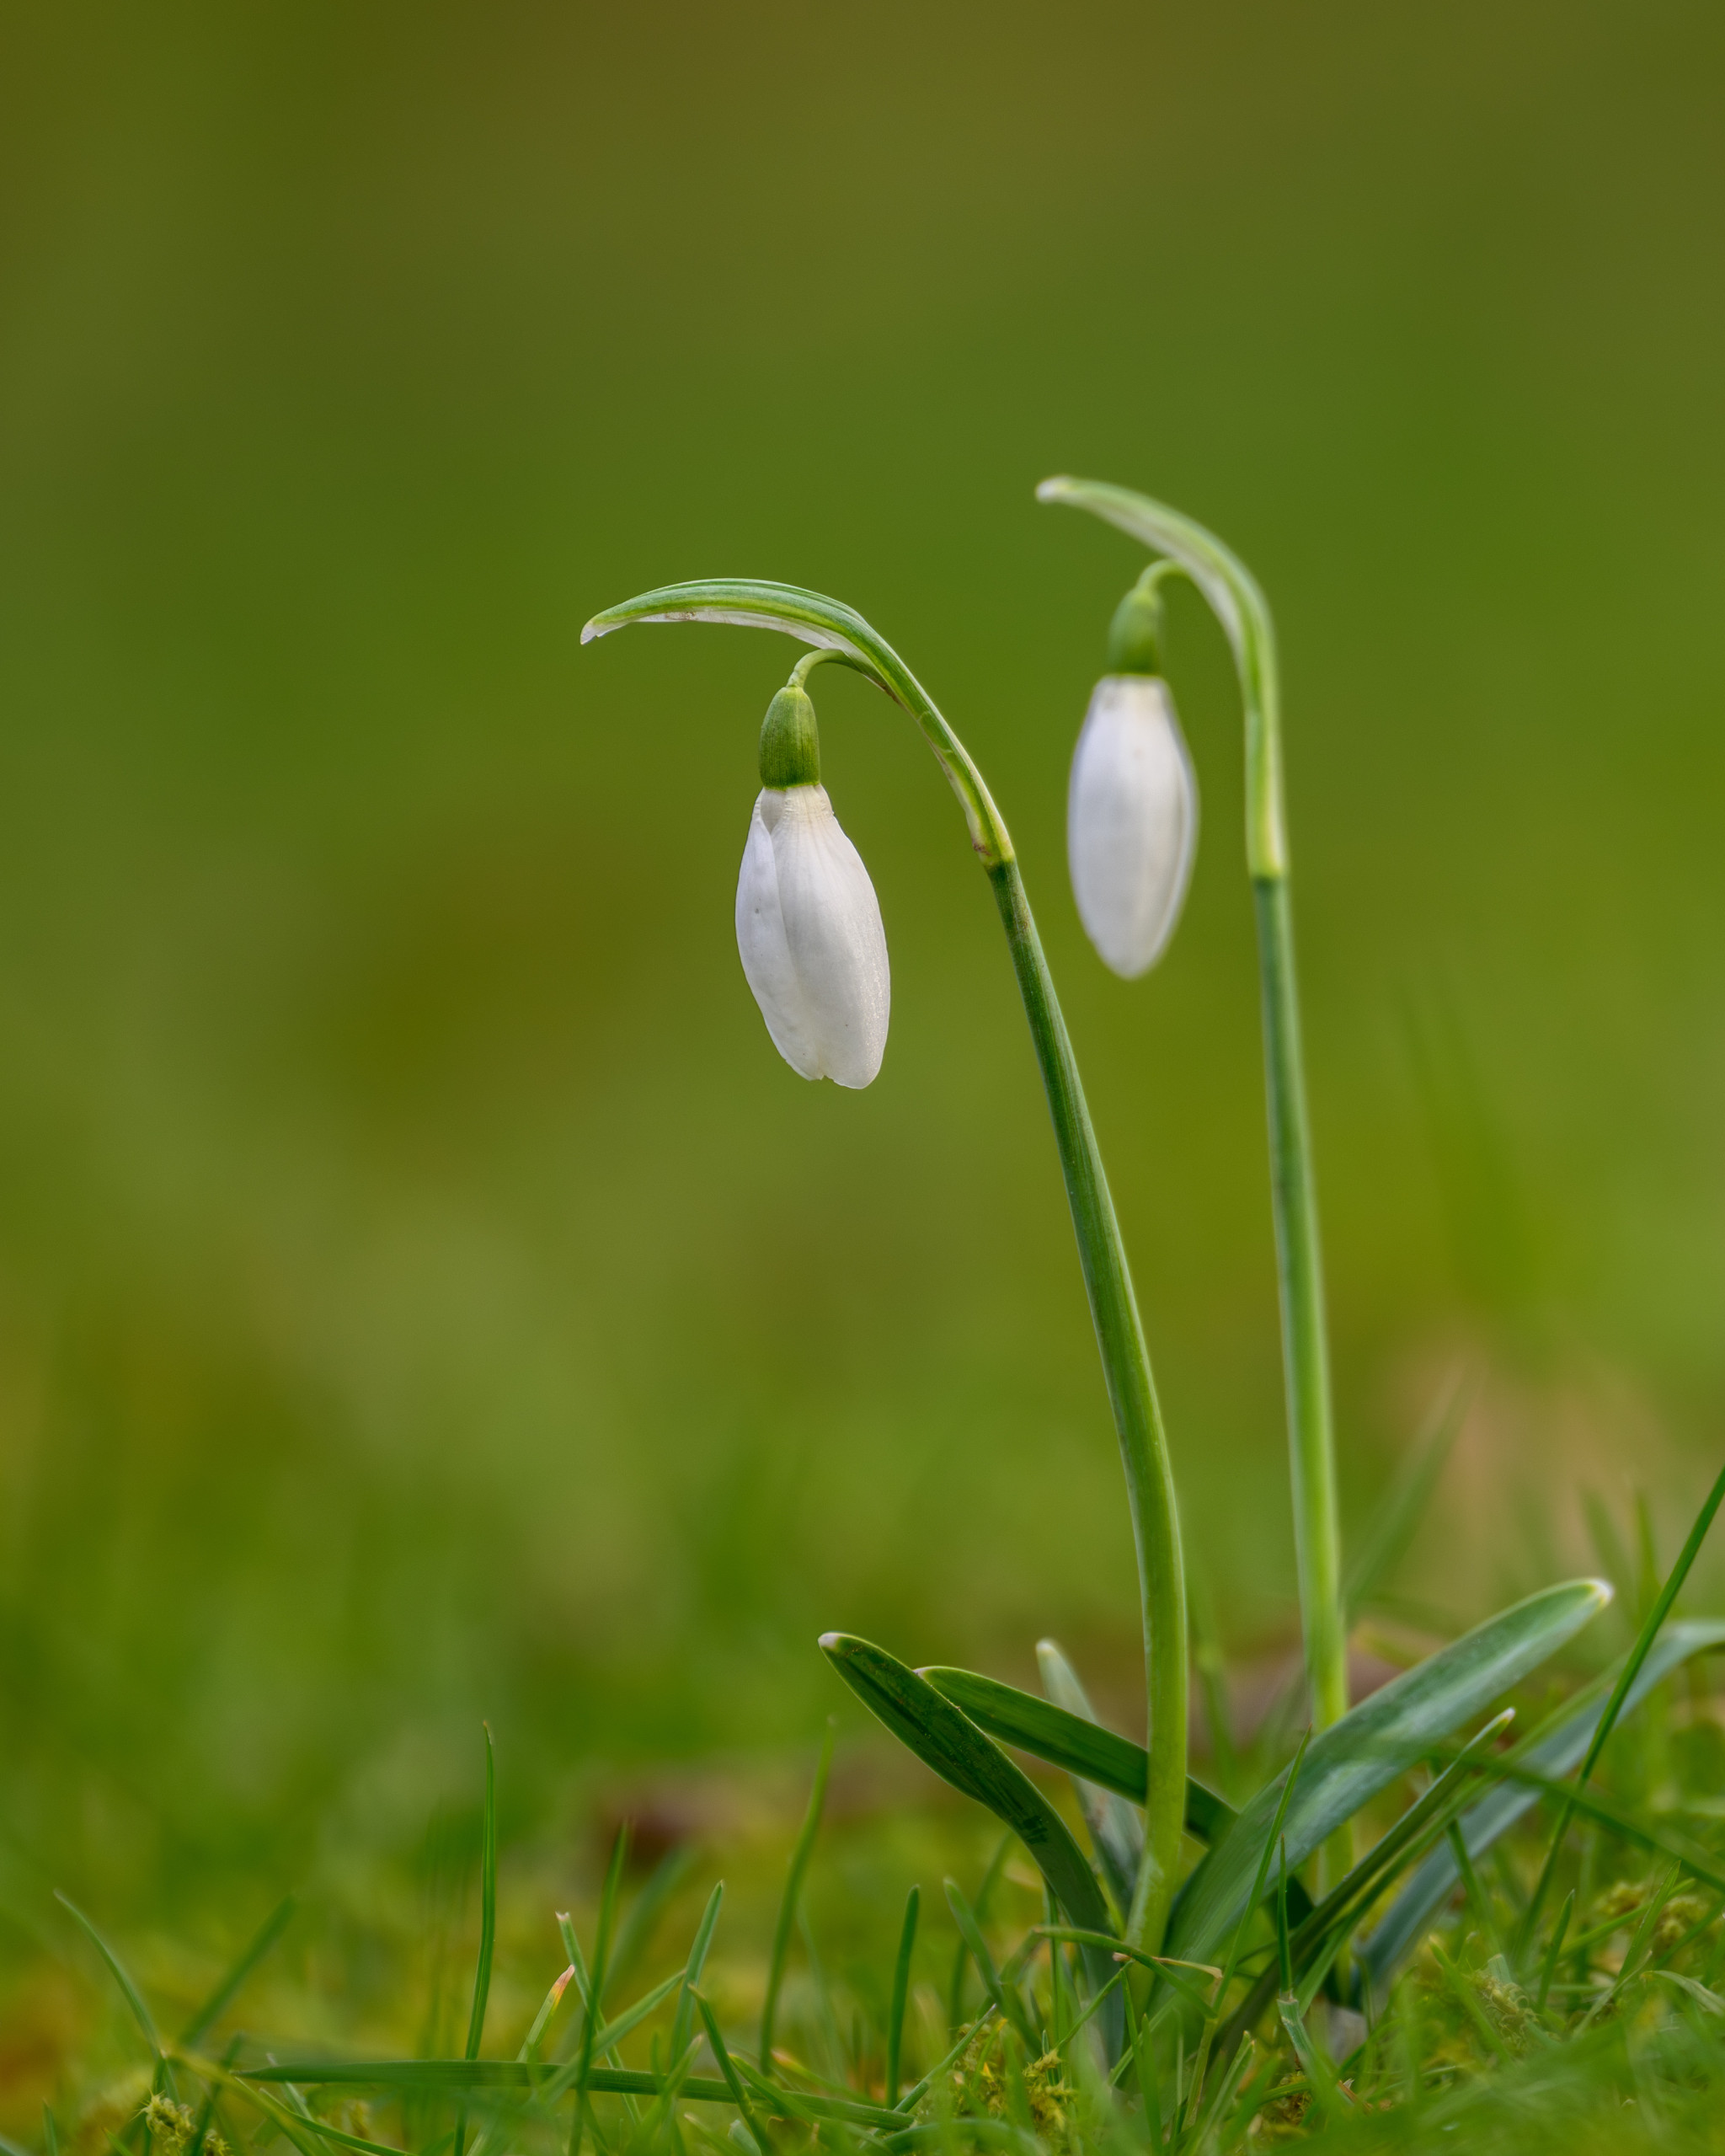
[[(860, 606), (1020, 843), (1229, 1647), (1292, 1554), (1240, 740), (1190, 595), (1190, 910), (1063, 867), (1147, 487), (1287, 681), (1348, 1516), (1484, 1393), (1408, 1591), (1593, 1563), (1725, 1410), (1725, 19), (11, 6), (0, 30), (4, 1951), (254, 1921), (608, 1779), (804, 1746), (826, 1626), (1128, 1712), (1132, 1557), (988, 888), (817, 677), (893, 949), (862, 1095), (731, 903)], [(852, 1727), (852, 1723), (845, 1723)], [(334, 1852), (334, 1854), (332, 1854)], [(58, 1934), (54, 1934), (58, 1936)]]

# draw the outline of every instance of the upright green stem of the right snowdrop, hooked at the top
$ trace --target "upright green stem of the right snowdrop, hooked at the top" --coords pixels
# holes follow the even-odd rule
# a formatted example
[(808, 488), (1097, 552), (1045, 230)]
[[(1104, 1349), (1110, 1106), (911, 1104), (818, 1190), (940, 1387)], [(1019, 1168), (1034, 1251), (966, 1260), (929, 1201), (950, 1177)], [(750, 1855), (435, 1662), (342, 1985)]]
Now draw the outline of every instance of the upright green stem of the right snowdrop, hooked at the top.
[(1294, 1481), (1294, 1550), (1313, 1720), (1328, 1729), (1348, 1712), (1348, 1636), (1341, 1615), (1341, 1529), (1335, 1488), (1335, 1419), (1324, 1324), (1324, 1259), (1317, 1179), (1311, 1164), (1294, 916), (1287, 895), (1287, 808), (1281, 776), (1281, 699), (1270, 608), (1246, 565), (1177, 509), (1128, 487), (1046, 479), (1044, 502), (1070, 502), (1175, 561), (1220, 621), (1240, 675), (1246, 718), (1246, 871), (1257, 908), (1264, 992), (1264, 1082), (1270, 1112), (1270, 1192), (1276, 1222), (1287, 1451)]

